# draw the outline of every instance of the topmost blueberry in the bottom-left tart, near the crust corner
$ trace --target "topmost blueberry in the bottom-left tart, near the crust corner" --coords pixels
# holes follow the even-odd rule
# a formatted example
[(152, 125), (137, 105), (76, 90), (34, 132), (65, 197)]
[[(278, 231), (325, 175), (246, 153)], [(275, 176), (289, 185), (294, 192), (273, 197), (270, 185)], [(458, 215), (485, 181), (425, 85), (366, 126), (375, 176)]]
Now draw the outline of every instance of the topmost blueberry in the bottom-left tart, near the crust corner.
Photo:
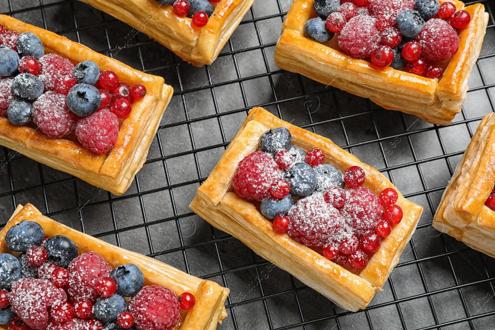
[(12, 251), (26, 252), (31, 246), (41, 245), (44, 238), (43, 227), (34, 221), (22, 220), (10, 227), (5, 235), (5, 244)]

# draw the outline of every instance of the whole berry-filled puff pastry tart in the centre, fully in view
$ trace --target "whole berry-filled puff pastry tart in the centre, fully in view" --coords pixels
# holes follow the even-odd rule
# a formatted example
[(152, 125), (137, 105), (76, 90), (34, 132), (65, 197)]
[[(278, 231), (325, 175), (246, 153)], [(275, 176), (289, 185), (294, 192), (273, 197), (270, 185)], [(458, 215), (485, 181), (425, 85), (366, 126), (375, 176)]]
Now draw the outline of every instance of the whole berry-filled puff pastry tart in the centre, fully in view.
[(263, 108), (249, 112), (190, 207), (351, 311), (381, 290), (423, 210), (329, 139)]

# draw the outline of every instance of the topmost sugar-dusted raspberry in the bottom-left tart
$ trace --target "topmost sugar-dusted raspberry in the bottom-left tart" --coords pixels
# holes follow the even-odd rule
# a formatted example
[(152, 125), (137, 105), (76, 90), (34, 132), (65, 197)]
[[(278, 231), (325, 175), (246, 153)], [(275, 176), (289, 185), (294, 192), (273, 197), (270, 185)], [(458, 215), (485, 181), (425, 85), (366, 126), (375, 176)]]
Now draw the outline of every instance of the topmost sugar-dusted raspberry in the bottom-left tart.
[(108, 276), (112, 268), (98, 253), (88, 252), (74, 259), (67, 270), (69, 271), (67, 293), (71, 298), (88, 298), (95, 302), (98, 298), (96, 288), (98, 281)]

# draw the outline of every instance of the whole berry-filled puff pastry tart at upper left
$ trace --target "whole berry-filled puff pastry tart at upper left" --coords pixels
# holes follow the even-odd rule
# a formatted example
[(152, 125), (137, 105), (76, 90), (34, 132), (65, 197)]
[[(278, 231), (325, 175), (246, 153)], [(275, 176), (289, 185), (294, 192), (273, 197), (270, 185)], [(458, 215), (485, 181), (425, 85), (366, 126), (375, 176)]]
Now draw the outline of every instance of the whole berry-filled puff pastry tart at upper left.
[[(172, 87), (6, 15), (0, 15), (0, 39), (6, 59), (0, 65), (0, 144), (124, 193), (146, 160)], [(18, 70), (23, 73), (9, 76)]]

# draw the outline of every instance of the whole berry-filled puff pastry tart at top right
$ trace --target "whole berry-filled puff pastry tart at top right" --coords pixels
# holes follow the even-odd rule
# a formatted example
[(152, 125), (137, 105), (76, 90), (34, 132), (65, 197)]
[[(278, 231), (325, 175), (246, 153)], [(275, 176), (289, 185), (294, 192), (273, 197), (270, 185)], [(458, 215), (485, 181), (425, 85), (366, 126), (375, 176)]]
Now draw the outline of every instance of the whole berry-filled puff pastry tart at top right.
[(489, 18), (484, 5), (341, 2), (294, 0), (275, 64), (386, 109), (449, 124), (461, 111), (481, 51)]

